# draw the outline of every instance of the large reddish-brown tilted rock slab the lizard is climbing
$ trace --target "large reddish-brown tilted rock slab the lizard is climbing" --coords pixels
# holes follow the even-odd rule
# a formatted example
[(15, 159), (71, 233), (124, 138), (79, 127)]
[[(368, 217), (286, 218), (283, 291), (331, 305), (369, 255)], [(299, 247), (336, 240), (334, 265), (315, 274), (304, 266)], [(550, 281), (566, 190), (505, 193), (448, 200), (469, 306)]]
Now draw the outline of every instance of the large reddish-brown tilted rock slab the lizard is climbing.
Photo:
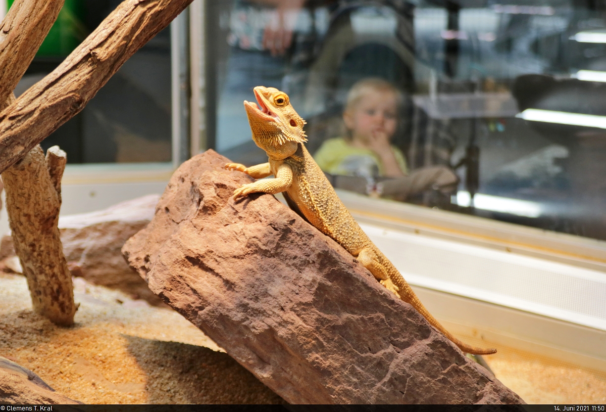
[(355, 258), (209, 150), (122, 248), (151, 291), (291, 403), (522, 403)]

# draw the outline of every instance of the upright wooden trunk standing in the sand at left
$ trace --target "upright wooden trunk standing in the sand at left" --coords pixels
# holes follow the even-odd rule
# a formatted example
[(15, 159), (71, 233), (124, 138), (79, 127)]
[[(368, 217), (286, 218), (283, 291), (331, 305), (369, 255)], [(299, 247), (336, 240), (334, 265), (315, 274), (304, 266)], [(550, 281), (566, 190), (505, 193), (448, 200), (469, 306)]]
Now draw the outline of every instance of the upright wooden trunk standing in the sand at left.
[[(53, 175), (61, 176), (64, 160), (48, 164)], [(69, 326), (76, 305), (57, 228), (61, 198), (48, 169), (38, 145), (2, 173), (2, 180), (15, 251), (27, 277), (33, 308), (53, 323)]]

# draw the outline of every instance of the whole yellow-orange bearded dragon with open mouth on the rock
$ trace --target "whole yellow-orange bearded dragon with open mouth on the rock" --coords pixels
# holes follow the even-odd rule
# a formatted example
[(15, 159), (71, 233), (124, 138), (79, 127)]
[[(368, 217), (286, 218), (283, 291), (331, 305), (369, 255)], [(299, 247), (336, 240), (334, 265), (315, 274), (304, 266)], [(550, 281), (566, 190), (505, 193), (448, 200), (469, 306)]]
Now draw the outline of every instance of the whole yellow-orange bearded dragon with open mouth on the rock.
[(284, 192), (284, 197), (293, 210), (358, 258), (382, 285), (404, 302), (413, 305), (431, 325), (462, 351), (478, 355), (495, 353), (494, 349), (466, 345), (448, 333), (431, 316), (398, 269), (358, 226), (339, 200), (324, 172), (305, 149), (305, 121), (290, 105), (288, 96), (273, 87), (259, 86), (255, 87), (254, 91), (260, 109), (255, 103), (248, 101), (244, 101), (244, 107), (253, 132), (253, 140), (267, 153), (268, 163), (252, 167), (228, 163), (225, 168), (244, 172), (257, 179), (270, 175), (274, 175), (274, 178), (244, 184), (236, 189), (233, 197), (237, 199), (257, 192)]

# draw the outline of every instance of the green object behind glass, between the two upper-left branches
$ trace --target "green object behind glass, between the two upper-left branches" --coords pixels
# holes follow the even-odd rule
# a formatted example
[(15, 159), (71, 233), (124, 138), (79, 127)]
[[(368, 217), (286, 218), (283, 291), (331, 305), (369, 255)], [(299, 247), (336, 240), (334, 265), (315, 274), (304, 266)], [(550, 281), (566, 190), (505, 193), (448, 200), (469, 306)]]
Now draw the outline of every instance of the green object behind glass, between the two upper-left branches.
[[(10, 8), (15, 0), (7, 1)], [(36, 57), (65, 57), (70, 54), (88, 35), (84, 13), (84, 0), (65, 0)]]

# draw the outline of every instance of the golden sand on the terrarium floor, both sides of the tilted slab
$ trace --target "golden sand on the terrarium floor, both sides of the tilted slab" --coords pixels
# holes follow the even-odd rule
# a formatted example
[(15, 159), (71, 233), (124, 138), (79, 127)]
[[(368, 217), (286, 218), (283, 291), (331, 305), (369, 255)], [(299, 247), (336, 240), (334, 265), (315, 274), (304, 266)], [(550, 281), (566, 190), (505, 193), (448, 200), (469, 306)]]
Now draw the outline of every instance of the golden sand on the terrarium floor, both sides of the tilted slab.
[[(76, 325), (58, 328), (33, 314), (24, 277), (0, 274), (0, 356), (86, 404), (284, 402), (176, 312), (82, 279), (74, 289)], [(488, 365), (529, 404), (606, 403), (606, 374), (494, 346)]]

